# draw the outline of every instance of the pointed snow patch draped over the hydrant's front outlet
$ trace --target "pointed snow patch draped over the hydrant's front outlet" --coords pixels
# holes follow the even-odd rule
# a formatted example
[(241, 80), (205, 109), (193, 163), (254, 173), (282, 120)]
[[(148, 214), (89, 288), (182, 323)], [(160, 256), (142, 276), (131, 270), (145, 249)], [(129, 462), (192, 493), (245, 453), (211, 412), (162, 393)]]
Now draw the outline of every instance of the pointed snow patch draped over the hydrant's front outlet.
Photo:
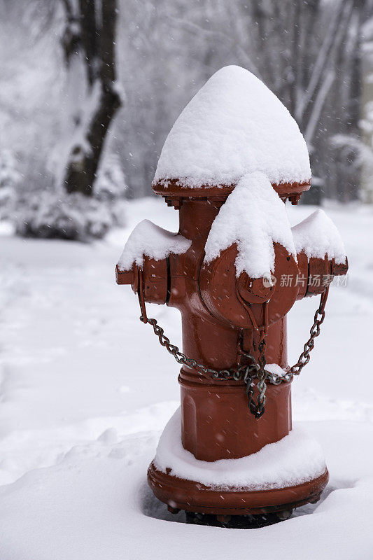
[(216, 216), (205, 246), (205, 262), (237, 243), (237, 277), (247, 272), (251, 278), (274, 272), (274, 242), (296, 257), (285, 204), (261, 172), (245, 175), (227, 197)]

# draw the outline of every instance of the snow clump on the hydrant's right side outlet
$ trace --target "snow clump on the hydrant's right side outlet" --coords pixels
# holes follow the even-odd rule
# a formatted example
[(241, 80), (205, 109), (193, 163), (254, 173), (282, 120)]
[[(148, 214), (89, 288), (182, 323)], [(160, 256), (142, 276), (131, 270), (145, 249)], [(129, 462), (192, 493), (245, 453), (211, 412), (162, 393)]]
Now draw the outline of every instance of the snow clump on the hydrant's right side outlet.
[(295, 250), (304, 251), (308, 258), (335, 258), (337, 265), (346, 262), (344, 242), (332, 220), (321, 209), (291, 228)]

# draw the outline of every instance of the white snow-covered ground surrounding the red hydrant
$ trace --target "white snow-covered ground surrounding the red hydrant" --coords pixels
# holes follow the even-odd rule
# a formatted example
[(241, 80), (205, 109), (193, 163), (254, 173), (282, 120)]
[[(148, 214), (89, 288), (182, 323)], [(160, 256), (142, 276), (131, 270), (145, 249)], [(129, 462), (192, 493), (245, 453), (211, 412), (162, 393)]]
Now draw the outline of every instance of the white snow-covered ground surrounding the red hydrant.
[[(292, 223), (313, 209), (290, 207)], [(178, 406), (178, 365), (116, 286), (134, 225), (176, 231), (162, 200), (132, 202), (125, 230), (93, 245), (0, 237), (0, 559), (123, 560), (373, 557), (373, 211), (327, 207), (349, 255), (332, 287), (311, 362), (293, 383), (293, 416), (323, 445), (323, 500), (252, 531), (191, 526), (146, 485), (146, 468)], [(318, 298), (289, 318), (294, 363)], [(178, 311), (149, 306), (181, 342)], [(171, 522), (174, 521), (174, 522)]]

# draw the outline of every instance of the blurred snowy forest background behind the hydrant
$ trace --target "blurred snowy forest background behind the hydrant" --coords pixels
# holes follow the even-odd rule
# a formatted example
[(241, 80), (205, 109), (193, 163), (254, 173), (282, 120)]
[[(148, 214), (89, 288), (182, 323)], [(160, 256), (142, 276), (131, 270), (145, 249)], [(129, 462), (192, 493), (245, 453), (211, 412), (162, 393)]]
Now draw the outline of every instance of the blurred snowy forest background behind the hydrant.
[(373, 0), (0, 0), (0, 218), (67, 239), (120, 225), (227, 64), (300, 125), (305, 202), (373, 202)]

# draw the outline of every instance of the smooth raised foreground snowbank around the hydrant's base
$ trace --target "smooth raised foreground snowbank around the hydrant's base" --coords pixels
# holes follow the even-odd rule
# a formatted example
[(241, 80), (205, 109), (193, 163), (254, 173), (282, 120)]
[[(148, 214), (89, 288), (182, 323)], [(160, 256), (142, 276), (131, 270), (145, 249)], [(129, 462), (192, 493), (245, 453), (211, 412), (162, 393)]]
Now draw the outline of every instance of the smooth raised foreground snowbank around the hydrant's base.
[(323, 442), (331, 479), (321, 502), (288, 521), (253, 531), (183, 523), (146, 484), (157, 433), (138, 433), (80, 445), (0, 489), (0, 558), (226, 560), (245, 558), (249, 545), (253, 558), (266, 560), (370, 559), (372, 426), (313, 421), (308, 429)]

